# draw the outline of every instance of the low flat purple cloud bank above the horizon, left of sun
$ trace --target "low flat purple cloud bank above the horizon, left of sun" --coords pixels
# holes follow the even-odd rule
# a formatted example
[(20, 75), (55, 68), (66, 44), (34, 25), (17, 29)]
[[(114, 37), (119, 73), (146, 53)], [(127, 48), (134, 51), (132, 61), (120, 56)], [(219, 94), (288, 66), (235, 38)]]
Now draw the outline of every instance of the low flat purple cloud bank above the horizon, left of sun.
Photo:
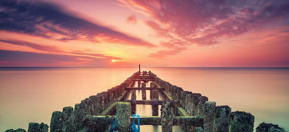
[[(75, 53), (73, 53), (75, 54)], [(66, 63), (87, 63), (90, 65), (101, 64), (105, 65), (105, 61), (110, 61), (111, 59), (121, 58), (106, 56), (104, 54), (48, 54), (48, 53), (35, 53), (35, 52), (24, 52), (24, 51), (12, 51), (12, 50), (0, 50), (0, 63), (4, 62), (22, 62), (22, 63), (34, 63), (37, 64), (47, 64), (49, 65), (59, 65), (65, 66)], [(2, 65), (3, 66), (3, 65)], [(99, 65), (98, 65), (99, 66)]]

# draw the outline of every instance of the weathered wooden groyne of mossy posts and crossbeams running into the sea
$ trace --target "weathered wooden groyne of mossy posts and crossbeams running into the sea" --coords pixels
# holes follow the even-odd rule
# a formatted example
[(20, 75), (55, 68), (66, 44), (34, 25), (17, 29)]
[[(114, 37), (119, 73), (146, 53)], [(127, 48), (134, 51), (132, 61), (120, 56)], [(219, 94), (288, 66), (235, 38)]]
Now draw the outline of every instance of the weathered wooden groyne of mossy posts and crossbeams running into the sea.
[[(133, 87), (136, 82), (138, 87)], [(150, 86), (145, 82), (150, 82)], [(142, 100), (136, 100), (136, 90), (141, 90)], [(146, 90), (150, 90), (150, 99), (146, 98)], [(130, 99), (126, 99), (127, 93), (131, 93)], [(151, 105), (152, 116), (134, 117), (136, 105)], [(159, 105), (161, 115), (158, 115)], [(75, 104), (74, 110), (64, 107), (62, 112), (53, 112), (50, 132), (130, 132), (134, 127), (131, 125), (138, 125), (136, 122), (139, 125), (160, 125), (162, 132), (172, 132), (173, 126), (180, 126), (188, 132), (253, 132), (254, 116), (246, 112), (231, 112), (227, 105), (216, 106), (216, 102), (209, 101), (200, 93), (184, 91), (151, 71), (141, 72), (139, 65), (139, 71), (120, 85), (84, 99)], [(258, 132), (265, 132), (261, 127)]]

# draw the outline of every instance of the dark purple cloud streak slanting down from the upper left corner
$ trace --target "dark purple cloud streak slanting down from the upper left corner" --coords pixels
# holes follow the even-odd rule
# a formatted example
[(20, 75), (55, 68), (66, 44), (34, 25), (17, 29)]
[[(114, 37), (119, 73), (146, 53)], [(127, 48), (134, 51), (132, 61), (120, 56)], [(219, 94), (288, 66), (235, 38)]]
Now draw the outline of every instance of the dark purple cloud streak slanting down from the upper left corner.
[[(135, 39), (108, 27), (100, 26), (62, 11), (60, 5), (43, 1), (9, 0), (0, 2), (0, 30), (49, 37), (79, 30), (79, 33), (59, 41), (81, 40), (93, 43), (118, 43)], [(144, 42), (145, 47), (155, 45)]]

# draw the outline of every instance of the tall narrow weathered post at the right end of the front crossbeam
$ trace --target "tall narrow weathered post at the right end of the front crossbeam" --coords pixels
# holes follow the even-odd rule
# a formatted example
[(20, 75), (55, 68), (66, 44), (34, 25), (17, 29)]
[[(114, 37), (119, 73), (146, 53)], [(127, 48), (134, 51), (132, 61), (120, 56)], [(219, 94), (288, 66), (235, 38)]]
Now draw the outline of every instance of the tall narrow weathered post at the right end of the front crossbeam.
[(206, 101), (204, 108), (204, 132), (213, 132), (214, 128), (214, 110), (216, 102)]

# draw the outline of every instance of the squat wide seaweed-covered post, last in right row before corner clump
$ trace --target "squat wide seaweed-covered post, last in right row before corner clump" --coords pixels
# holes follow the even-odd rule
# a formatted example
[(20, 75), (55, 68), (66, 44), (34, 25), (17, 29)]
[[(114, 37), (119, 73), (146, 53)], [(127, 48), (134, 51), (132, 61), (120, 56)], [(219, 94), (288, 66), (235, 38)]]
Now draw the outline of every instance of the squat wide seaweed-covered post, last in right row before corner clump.
[(229, 132), (253, 132), (255, 117), (246, 112), (231, 113)]

